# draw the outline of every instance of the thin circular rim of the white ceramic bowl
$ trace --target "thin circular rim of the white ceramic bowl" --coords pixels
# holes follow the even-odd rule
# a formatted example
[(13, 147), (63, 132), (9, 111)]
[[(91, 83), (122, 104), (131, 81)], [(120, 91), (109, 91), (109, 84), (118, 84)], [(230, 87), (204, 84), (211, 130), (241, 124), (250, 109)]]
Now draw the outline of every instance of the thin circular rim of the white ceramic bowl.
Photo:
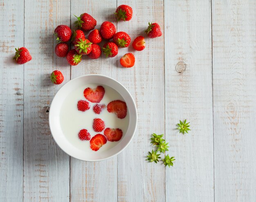
[[(77, 157), (75, 157), (75, 156), (72, 156), (72, 155), (68, 154), (68, 153), (63, 149), (63, 147), (62, 147), (61, 145), (59, 145), (58, 140), (56, 140), (57, 136), (56, 136), (56, 135), (53, 135), (53, 132), (52, 132), (53, 130), (52, 130), (52, 126), (51, 126), (51, 122), (52, 122), (52, 121), (51, 121), (51, 120), (52, 120), (52, 119), (51, 119), (51, 114), (52, 114), (52, 113), (51, 113), (51, 107), (52, 107), (52, 104), (54, 103), (54, 101), (55, 101), (55, 99), (56, 99), (56, 95), (58, 94), (58, 92), (59, 92), (62, 88), (65, 88), (65, 86), (67, 85), (67, 83), (69, 83), (70, 81), (79, 79), (79, 78), (81, 78), (81, 77), (88, 77), (88, 76), (105, 77), (105, 78), (107, 78), (107, 79), (111, 79), (111, 80), (115, 81), (117, 84), (119, 84), (120, 86), (122, 86), (122, 87), (126, 90), (126, 92), (128, 93), (128, 95), (129, 95), (129, 97), (130, 97), (130, 99), (131, 99), (131, 101), (132, 101), (133, 108), (134, 108), (134, 110), (135, 110), (135, 127), (134, 127), (134, 130), (133, 130), (133, 134), (132, 134), (132, 136), (130, 137), (130, 140), (126, 143), (126, 145), (125, 145), (122, 149), (119, 150), (119, 152), (117, 152), (117, 153), (115, 153), (115, 154), (112, 154), (112, 155), (110, 155), (110, 156), (108, 156), (108, 157), (106, 157), (106, 158), (95, 159), (95, 160), (94, 160), (94, 159), (84, 160), (84, 159), (77, 158)], [(97, 162), (97, 161), (106, 160), (106, 159), (112, 158), (112, 157), (114, 157), (114, 156), (117, 156), (118, 154), (120, 154), (121, 152), (123, 152), (124, 149), (126, 149), (126, 147), (130, 144), (130, 142), (132, 141), (133, 137), (135, 136), (135, 132), (136, 132), (136, 129), (137, 129), (137, 119), (138, 119), (137, 107), (136, 107), (135, 101), (134, 101), (132, 95), (130, 94), (130, 92), (127, 90), (127, 88), (126, 88), (124, 85), (122, 85), (119, 81), (117, 81), (117, 80), (115, 80), (115, 79), (113, 79), (113, 78), (111, 78), (111, 77), (108, 77), (108, 76), (106, 76), (106, 75), (101, 75), (101, 74), (86, 74), (86, 75), (81, 75), (81, 76), (75, 77), (75, 78), (73, 78), (73, 79), (70, 79), (69, 81), (67, 81), (67, 83), (65, 83), (63, 86), (61, 86), (61, 88), (58, 89), (58, 91), (57, 91), (56, 94), (54, 95), (54, 98), (52, 99), (52, 102), (51, 102), (51, 105), (50, 105), (50, 108), (49, 108), (49, 116), (48, 116), (48, 119), (49, 119), (49, 128), (50, 128), (51, 135), (52, 135), (52, 137), (54, 138), (54, 141), (55, 141), (55, 143), (58, 145), (58, 147), (60, 147), (61, 150), (62, 150), (63, 152), (65, 152), (67, 155), (72, 156), (73, 158), (76, 158), (76, 159), (78, 159), (78, 160), (87, 161), (87, 162)], [(103, 84), (103, 83), (102, 83), (102, 84)], [(106, 85), (106, 84), (105, 84), (105, 85)], [(107, 85), (107, 86), (108, 86), (108, 85)], [(111, 88), (112, 88), (112, 87), (111, 87)]]

